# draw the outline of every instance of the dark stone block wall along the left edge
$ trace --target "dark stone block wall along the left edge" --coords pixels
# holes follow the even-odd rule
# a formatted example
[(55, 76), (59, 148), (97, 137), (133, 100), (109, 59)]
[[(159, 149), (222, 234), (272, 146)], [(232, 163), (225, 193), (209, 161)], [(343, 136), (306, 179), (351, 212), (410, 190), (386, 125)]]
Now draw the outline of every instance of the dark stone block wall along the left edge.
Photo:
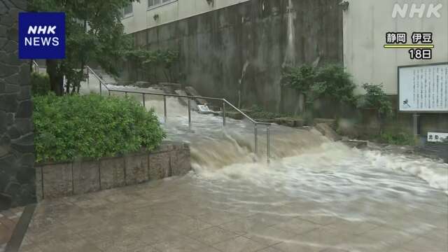
[(18, 58), (18, 13), (26, 0), (0, 1), (0, 209), (35, 202), (29, 60)]

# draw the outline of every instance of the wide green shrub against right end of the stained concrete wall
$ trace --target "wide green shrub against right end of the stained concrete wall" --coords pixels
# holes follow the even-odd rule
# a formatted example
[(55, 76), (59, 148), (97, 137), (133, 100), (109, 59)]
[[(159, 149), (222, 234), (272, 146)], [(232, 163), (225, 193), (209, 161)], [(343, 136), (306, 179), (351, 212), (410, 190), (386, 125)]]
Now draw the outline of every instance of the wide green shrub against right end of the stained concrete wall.
[(351, 75), (339, 64), (327, 64), (315, 68), (308, 64), (283, 69), (282, 82), (304, 96), (304, 104), (316, 99), (328, 98), (334, 101), (355, 105), (353, 90), (356, 85)]

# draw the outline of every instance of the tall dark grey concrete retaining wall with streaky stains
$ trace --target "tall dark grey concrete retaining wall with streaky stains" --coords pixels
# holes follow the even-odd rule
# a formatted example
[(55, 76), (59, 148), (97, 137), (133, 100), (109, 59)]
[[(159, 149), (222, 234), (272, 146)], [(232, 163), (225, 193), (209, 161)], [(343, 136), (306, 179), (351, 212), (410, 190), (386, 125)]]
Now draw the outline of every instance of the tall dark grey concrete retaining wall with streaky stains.
[[(298, 95), (281, 87), (282, 66), (286, 57), (295, 64), (342, 62), (342, 9), (338, 0), (291, 3), (288, 11), (288, 0), (251, 0), (132, 35), (137, 47), (179, 50), (183, 84), (204, 96), (297, 113)], [(123, 69), (125, 80), (146, 80), (134, 66)]]

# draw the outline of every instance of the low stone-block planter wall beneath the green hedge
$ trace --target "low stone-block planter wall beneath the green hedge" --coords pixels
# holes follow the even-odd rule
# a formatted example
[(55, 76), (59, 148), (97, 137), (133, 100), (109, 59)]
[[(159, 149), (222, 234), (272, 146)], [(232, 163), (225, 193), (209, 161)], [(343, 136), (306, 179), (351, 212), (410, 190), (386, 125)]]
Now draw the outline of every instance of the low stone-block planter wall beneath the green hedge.
[(182, 176), (190, 169), (190, 146), (166, 143), (151, 152), (36, 165), (36, 194), (38, 200), (80, 195)]

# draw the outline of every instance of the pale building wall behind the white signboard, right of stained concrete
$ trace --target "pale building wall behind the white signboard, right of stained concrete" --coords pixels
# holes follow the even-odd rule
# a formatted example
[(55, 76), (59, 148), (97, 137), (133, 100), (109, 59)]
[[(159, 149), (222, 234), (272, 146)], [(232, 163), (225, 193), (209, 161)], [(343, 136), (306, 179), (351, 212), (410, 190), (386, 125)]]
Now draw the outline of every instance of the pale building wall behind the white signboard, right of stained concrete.
[[(358, 85), (383, 83), (387, 94), (398, 94), (397, 66), (448, 62), (448, 0), (349, 0), (344, 11), (344, 64)], [(395, 3), (442, 3), (440, 18), (392, 18)], [(409, 11), (409, 10), (408, 10)], [(384, 49), (386, 32), (433, 32), (435, 49), (432, 60), (409, 58), (407, 49)], [(362, 92), (358, 87), (358, 92)]]

